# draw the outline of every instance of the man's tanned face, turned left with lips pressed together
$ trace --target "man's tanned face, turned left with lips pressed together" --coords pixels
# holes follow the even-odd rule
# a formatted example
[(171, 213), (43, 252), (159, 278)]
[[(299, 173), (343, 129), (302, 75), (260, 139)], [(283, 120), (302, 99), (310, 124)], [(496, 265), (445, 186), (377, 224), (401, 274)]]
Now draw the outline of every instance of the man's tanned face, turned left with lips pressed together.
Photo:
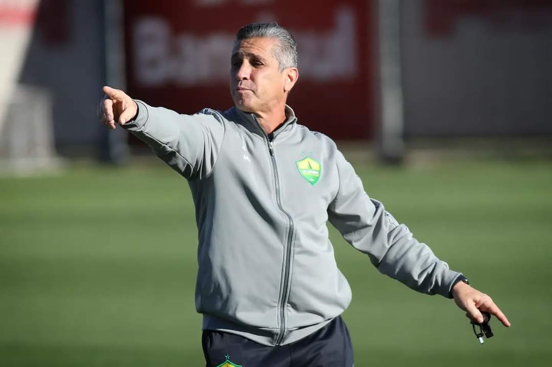
[(240, 41), (232, 50), (230, 93), (245, 112), (266, 112), (285, 103), (286, 70), (279, 71), (272, 48), (278, 40), (257, 37)]

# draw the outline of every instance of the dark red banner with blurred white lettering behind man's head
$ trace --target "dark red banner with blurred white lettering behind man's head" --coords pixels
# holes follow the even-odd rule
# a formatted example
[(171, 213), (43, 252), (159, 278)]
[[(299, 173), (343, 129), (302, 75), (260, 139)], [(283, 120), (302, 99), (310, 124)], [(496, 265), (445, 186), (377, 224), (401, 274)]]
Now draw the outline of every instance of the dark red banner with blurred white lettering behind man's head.
[(367, 138), (374, 122), (374, 6), (366, 0), (127, 0), (131, 96), (193, 113), (232, 106), (230, 52), (238, 29), (277, 21), (299, 48), (288, 104), (299, 123), (334, 139)]

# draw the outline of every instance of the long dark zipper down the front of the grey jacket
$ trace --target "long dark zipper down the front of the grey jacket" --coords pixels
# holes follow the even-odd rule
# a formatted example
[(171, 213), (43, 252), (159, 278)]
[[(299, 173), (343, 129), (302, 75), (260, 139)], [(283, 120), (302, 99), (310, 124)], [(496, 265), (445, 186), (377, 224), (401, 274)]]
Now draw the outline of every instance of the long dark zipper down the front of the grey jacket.
[(276, 203), (278, 204), (278, 208), (282, 213), (285, 214), (285, 216), (288, 218), (288, 224), (289, 224), (289, 231), (288, 231), (288, 240), (287, 240), (287, 246), (286, 246), (286, 256), (285, 256), (285, 263), (284, 263), (284, 279), (283, 279), (283, 289), (282, 289), (282, 297), (280, 298), (280, 332), (278, 334), (278, 338), (276, 338), (276, 345), (279, 345), (282, 343), (282, 340), (284, 339), (285, 334), (285, 304), (288, 302), (288, 297), (286, 294), (288, 294), (289, 290), (289, 270), (291, 267), (291, 245), (293, 244), (293, 218), (291, 218), (291, 215), (284, 210), (282, 207), (282, 198), (280, 197), (280, 179), (278, 176), (278, 168), (276, 166), (276, 158), (274, 158), (274, 143), (273, 139), (270, 139), (267, 135), (267, 133), (262, 129), (261, 125), (258, 123), (257, 118), (255, 115), (253, 115), (254, 120), (257, 122), (259, 127), (261, 128), (261, 131), (264, 134), (264, 137), (267, 139), (268, 143), (268, 152), (270, 153), (270, 161), (272, 162), (272, 168), (274, 170), (274, 186), (276, 191)]

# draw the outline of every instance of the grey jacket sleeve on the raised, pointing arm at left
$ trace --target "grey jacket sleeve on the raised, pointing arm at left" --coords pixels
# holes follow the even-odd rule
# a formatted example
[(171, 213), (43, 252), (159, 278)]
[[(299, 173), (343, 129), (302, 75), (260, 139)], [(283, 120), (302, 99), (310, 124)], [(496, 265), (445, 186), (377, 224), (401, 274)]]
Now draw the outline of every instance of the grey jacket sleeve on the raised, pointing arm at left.
[(220, 114), (204, 109), (195, 115), (181, 115), (135, 101), (138, 115), (124, 128), (150, 145), (159, 158), (188, 180), (209, 175), (224, 138), (225, 125)]

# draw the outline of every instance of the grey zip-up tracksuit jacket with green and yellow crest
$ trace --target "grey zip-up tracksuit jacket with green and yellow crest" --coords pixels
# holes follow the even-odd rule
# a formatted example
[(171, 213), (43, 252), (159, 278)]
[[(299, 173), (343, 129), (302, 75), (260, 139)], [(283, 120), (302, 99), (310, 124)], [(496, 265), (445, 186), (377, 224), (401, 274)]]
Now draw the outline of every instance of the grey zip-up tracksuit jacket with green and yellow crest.
[(294, 342), (351, 302), (326, 222), (384, 273), (449, 296), (460, 273), (368, 197), (332, 139), (285, 123), (270, 135), (236, 107), (179, 115), (137, 101), (125, 125), (192, 190), (198, 225), (195, 305), (203, 328), (268, 346)]

